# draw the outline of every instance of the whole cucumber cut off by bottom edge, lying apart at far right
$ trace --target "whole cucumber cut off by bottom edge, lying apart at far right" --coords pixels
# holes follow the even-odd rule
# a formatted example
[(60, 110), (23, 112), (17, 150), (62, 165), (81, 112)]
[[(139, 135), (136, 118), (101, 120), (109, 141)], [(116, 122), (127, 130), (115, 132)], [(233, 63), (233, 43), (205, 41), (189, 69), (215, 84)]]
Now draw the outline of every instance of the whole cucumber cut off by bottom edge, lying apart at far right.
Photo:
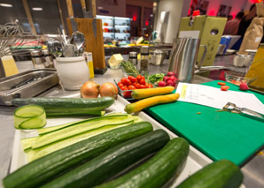
[(234, 188), (243, 182), (243, 174), (228, 160), (212, 162), (188, 177), (178, 188)]

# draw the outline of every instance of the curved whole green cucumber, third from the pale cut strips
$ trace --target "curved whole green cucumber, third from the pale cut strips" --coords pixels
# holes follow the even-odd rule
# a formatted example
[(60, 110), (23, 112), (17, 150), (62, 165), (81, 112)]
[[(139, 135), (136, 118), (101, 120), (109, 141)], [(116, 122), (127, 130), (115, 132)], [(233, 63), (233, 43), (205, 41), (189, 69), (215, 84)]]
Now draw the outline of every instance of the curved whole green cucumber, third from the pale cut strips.
[(144, 162), (122, 177), (97, 187), (161, 187), (182, 168), (188, 154), (189, 143), (185, 139), (171, 139), (148, 162)]

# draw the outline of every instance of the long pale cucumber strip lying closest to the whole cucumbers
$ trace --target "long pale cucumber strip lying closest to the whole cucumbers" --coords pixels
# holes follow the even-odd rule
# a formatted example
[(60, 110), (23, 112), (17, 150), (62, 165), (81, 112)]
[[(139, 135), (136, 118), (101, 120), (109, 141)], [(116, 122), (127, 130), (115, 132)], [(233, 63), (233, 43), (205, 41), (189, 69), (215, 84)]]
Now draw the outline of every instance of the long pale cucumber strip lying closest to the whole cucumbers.
[(82, 134), (77, 134), (74, 137), (70, 137), (68, 139), (62, 139), (57, 142), (53, 142), (45, 147), (29, 149), (29, 150), (27, 149), (27, 161), (32, 162), (40, 157), (43, 157), (46, 154), (50, 154), (64, 147), (68, 147), (76, 142), (82, 141), (84, 139), (89, 139), (100, 133), (108, 132), (110, 130), (117, 129), (119, 127), (128, 126), (130, 124), (133, 123), (105, 126), (96, 130), (91, 130), (89, 132), (83, 132)]

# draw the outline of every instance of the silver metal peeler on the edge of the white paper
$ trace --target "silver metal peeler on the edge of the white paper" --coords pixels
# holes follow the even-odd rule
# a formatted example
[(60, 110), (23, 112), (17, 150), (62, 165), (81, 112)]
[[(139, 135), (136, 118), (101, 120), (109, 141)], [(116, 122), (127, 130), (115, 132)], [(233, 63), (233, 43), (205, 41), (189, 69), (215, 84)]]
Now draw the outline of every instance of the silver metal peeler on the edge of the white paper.
[(222, 109), (228, 112), (241, 114), (242, 116), (250, 117), (250, 118), (264, 122), (263, 114), (260, 114), (259, 112), (253, 111), (251, 109), (239, 108), (236, 106), (236, 104), (232, 102), (228, 102)]

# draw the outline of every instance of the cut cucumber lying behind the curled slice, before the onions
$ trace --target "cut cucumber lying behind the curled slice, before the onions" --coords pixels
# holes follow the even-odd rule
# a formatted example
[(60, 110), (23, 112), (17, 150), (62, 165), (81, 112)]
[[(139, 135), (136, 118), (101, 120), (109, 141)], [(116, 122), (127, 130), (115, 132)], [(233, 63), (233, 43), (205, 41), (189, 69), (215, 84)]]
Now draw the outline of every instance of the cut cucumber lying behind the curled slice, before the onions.
[(99, 97), (95, 99), (82, 98), (16, 98), (12, 100), (14, 106), (34, 104), (42, 106), (46, 113), (83, 113), (88, 111), (101, 111), (110, 107), (114, 100), (112, 97)]

